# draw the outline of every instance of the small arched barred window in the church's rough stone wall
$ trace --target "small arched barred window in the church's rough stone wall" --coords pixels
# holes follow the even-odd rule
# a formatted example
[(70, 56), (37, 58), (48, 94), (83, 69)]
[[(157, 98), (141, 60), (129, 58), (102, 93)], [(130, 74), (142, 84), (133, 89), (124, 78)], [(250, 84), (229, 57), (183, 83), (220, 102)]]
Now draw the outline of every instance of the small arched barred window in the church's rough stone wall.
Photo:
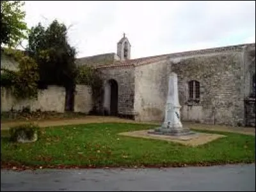
[(188, 81), (188, 101), (200, 102), (200, 82), (196, 80)]

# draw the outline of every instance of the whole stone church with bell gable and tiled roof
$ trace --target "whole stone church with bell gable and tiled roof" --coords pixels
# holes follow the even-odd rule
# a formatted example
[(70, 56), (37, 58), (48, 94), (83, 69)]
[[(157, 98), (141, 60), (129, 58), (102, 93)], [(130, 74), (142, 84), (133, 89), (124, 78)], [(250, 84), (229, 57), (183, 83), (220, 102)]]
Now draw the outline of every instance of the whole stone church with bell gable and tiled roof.
[(79, 58), (76, 65), (102, 73), (101, 108), (107, 115), (163, 120), (168, 76), (175, 72), (182, 121), (255, 126), (255, 44), (131, 60), (124, 35), (116, 53)]

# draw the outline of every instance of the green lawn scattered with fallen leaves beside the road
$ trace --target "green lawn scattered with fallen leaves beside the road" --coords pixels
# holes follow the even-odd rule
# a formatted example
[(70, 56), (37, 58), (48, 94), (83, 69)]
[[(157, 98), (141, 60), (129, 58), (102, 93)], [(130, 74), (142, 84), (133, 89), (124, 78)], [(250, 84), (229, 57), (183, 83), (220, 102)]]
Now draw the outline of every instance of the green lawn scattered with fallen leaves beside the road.
[[(117, 135), (118, 132), (152, 129), (145, 124), (86, 124), (42, 128), (35, 143), (11, 143), (1, 138), (1, 166), (179, 166), (181, 164), (255, 163), (255, 136), (225, 134), (199, 147), (161, 140)], [(202, 131), (201, 131), (202, 132)], [(1, 136), (4, 132), (1, 131)]]

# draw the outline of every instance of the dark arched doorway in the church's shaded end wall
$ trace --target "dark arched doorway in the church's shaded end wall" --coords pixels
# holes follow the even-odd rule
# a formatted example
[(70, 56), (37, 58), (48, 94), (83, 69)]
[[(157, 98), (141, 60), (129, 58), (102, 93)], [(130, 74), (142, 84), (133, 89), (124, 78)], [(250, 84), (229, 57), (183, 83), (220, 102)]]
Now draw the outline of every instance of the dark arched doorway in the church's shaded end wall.
[(105, 84), (104, 108), (106, 115), (118, 115), (118, 84), (114, 79), (110, 79)]

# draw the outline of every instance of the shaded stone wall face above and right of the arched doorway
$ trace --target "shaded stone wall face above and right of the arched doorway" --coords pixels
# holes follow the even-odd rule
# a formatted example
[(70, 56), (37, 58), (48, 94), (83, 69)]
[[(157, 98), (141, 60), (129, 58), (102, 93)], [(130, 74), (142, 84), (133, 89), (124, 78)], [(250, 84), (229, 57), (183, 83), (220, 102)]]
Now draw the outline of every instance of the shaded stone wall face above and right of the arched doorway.
[(118, 84), (118, 114), (134, 115), (134, 68), (101, 69), (105, 83), (114, 79)]

